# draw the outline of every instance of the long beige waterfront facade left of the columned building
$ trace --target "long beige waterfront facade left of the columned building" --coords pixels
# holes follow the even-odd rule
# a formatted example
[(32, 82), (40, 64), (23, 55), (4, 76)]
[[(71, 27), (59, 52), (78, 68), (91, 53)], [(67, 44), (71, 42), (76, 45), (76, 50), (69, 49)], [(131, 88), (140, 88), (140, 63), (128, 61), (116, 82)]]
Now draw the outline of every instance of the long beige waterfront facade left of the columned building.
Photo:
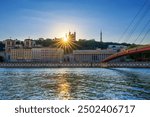
[(11, 49), (10, 62), (62, 62), (64, 51), (59, 48)]

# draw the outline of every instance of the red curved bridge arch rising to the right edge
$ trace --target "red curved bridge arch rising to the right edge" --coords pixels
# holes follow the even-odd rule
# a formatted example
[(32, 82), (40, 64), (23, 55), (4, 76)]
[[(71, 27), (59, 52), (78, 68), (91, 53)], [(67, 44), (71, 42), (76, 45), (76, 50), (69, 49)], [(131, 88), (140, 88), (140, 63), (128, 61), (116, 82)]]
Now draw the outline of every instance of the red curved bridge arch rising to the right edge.
[(132, 49), (123, 50), (121, 52), (118, 52), (116, 54), (113, 54), (113, 55), (107, 57), (102, 62), (109, 62), (113, 59), (116, 59), (116, 58), (119, 58), (119, 57), (122, 57), (122, 56), (141, 53), (141, 52), (146, 52), (146, 51), (150, 51), (150, 45), (144, 45), (144, 46), (139, 46), (139, 47), (132, 48)]

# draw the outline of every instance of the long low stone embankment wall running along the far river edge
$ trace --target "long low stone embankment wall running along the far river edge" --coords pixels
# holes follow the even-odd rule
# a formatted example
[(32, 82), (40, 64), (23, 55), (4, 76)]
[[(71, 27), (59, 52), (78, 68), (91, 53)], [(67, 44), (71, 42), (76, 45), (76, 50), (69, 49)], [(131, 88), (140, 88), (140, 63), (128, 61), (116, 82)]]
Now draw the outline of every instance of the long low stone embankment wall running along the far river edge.
[(150, 68), (150, 62), (120, 63), (0, 63), (0, 68)]

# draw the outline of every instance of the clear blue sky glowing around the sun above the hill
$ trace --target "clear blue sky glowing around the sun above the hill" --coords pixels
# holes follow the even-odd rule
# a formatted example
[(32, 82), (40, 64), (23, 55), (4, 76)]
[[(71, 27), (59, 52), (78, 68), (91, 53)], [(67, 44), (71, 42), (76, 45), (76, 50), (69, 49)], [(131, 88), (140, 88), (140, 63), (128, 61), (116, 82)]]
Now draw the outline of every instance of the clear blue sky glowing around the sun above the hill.
[[(0, 0), (0, 40), (9, 37), (23, 40), (29, 36), (33, 39), (63, 37), (70, 30), (77, 32), (78, 39), (98, 41), (102, 29), (103, 41), (117, 42), (144, 2), (145, 0)], [(128, 42), (134, 42), (145, 22), (150, 20), (148, 16), (149, 12)], [(148, 28), (145, 32), (147, 30)], [(120, 42), (126, 42), (129, 34), (130, 31)], [(142, 40), (142, 35), (144, 31), (137, 43)], [(143, 43), (150, 43), (149, 39), (148, 34)]]

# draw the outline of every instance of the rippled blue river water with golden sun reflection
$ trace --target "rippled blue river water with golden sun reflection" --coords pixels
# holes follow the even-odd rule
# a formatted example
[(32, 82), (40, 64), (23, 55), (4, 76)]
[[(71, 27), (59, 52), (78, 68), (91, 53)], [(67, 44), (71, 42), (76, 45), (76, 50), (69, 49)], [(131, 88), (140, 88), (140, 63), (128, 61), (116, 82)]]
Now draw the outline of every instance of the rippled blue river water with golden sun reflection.
[(150, 100), (150, 69), (0, 68), (1, 100)]

